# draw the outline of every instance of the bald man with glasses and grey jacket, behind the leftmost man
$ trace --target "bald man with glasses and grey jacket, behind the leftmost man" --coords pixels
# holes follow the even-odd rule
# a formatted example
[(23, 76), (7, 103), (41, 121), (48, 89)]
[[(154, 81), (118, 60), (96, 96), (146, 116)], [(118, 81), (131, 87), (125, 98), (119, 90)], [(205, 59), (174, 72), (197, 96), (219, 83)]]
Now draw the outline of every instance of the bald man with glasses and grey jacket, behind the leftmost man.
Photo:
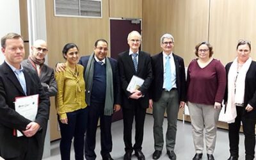
[[(44, 40), (36, 40), (31, 47), (31, 52), (28, 59), (22, 61), (21, 65), (24, 68), (28, 68), (28, 70), (34, 70), (38, 74), (45, 93), (49, 97), (51, 97), (57, 94), (57, 83), (54, 77), (54, 70), (51, 67), (45, 65), (44, 63), (47, 53), (47, 43)], [(41, 127), (44, 128), (42, 132), (44, 140), (47, 131), (47, 124)], [(50, 141), (47, 141), (46, 143), (49, 143), (50, 145)], [(42, 143), (42, 146), (40, 146), (39, 148), (40, 153), (38, 154), (38, 157), (39, 159), (42, 159), (44, 151), (44, 141)]]

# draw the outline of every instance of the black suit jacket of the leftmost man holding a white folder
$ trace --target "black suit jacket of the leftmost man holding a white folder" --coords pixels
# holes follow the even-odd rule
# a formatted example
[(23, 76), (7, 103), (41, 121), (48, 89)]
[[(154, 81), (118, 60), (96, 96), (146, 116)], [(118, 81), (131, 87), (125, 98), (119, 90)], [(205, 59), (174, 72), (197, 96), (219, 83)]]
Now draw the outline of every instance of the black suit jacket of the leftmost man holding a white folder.
[[(39, 94), (38, 113), (35, 122), (44, 126), (49, 118), (49, 100), (45, 94), (38, 76), (24, 68), (27, 95)], [(26, 136), (13, 136), (13, 129), (26, 130), (31, 122), (15, 111), (15, 97), (25, 96), (20, 83), (12, 69), (4, 62), (0, 65), (0, 156), (12, 158), (20, 155), (22, 147), (29, 147)], [(37, 143), (42, 141), (42, 130), (36, 132)]]

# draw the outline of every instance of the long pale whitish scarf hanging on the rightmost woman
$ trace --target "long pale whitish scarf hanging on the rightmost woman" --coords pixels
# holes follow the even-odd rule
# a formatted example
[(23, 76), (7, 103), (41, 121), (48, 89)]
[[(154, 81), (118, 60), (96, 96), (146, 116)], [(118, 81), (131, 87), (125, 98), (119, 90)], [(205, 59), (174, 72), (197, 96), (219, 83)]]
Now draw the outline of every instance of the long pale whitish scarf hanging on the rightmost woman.
[[(236, 104), (244, 103), (244, 86), (246, 73), (252, 63), (252, 58), (248, 58), (237, 73), (237, 58), (233, 61), (228, 71), (228, 101), (224, 121), (228, 124), (234, 123), (237, 116)], [(235, 88), (236, 84), (236, 88)], [(236, 89), (236, 94), (235, 94)]]

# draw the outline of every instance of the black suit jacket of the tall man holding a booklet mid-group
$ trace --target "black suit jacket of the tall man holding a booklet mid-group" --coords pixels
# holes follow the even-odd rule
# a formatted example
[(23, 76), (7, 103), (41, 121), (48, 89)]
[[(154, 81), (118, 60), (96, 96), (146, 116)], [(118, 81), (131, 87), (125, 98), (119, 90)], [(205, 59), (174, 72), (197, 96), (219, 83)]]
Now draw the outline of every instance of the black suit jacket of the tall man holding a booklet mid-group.
[[(118, 67), (120, 72), (120, 81), (123, 95), (122, 107), (131, 108), (131, 106), (134, 106), (135, 103), (139, 103), (141, 108), (148, 108), (148, 88), (150, 87), (153, 79), (150, 54), (148, 54), (147, 52), (139, 51), (138, 70), (137, 72), (135, 72), (132, 57), (129, 56), (129, 51), (121, 52), (120, 54), (118, 54)], [(128, 84), (132, 79), (132, 76), (134, 75), (145, 80), (143, 85), (139, 89), (144, 97), (141, 97), (138, 100), (129, 99), (131, 93), (126, 90)]]

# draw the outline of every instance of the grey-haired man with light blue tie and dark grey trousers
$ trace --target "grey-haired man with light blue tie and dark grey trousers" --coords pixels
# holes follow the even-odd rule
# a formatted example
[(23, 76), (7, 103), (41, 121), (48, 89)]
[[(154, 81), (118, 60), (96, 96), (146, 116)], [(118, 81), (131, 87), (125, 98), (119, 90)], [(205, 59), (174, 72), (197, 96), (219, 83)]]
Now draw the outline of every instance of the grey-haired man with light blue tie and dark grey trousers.
[(160, 39), (162, 52), (152, 56), (154, 79), (150, 86), (150, 108), (154, 116), (155, 152), (153, 159), (161, 156), (163, 139), (164, 112), (167, 113), (168, 128), (166, 132), (166, 150), (170, 159), (176, 159), (173, 152), (177, 131), (177, 116), (179, 108), (184, 108), (186, 98), (186, 77), (184, 61), (173, 54), (174, 38), (164, 34)]

